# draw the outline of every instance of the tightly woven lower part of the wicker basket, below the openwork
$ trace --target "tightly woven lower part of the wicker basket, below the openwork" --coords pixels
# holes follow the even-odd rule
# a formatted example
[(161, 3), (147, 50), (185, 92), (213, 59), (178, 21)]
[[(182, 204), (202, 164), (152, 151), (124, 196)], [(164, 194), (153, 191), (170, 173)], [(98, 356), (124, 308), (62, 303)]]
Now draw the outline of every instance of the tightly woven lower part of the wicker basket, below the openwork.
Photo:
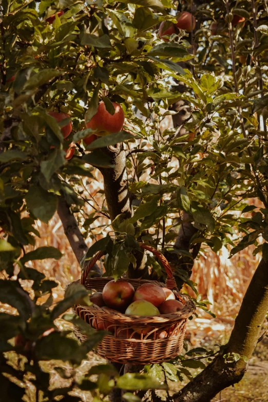
[[(183, 349), (186, 321), (179, 335), (157, 340), (122, 339), (106, 335), (94, 352), (106, 360), (133, 365), (156, 364), (177, 357)], [(74, 328), (75, 336), (81, 341), (87, 337)]]

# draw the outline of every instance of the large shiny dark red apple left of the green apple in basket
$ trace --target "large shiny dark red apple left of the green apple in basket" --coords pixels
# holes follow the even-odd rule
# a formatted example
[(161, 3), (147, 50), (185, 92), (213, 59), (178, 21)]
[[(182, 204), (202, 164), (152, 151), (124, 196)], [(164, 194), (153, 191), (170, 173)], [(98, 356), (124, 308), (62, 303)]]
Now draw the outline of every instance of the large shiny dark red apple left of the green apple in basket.
[(102, 297), (108, 307), (125, 311), (129, 303), (131, 303), (134, 293), (133, 286), (126, 280), (110, 280), (103, 288)]

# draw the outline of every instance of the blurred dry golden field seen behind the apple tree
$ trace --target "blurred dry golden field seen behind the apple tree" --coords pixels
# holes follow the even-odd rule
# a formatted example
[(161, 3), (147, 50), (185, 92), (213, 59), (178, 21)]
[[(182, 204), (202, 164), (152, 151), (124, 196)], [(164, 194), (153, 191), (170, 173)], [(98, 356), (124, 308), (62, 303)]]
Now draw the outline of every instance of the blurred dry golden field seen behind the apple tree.
[[(167, 120), (166, 126), (169, 123), (170, 121), (168, 122)], [(164, 128), (166, 127), (163, 126), (162, 129)], [(174, 168), (176, 169), (176, 166)], [(94, 179), (80, 178), (78, 180), (77, 177), (74, 179), (76, 180), (76, 191), (85, 200), (85, 206), (82, 212), (76, 213), (76, 218), (79, 221), (82, 232), (85, 233), (88, 247), (94, 241), (112, 231), (111, 226), (109, 226), (109, 220), (95, 210), (105, 209), (102, 175), (97, 169), (92, 169), (92, 175)], [(141, 180), (146, 180), (146, 173)], [(251, 200), (250, 204), (255, 204), (258, 207), (262, 206), (258, 200)], [(239, 214), (239, 212), (237, 213)], [(97, 219), (92, 219), (97, 216)], [(87, 219), (93, 220), (93, 222), (87, 225)], [(166, 231), (168, 231), (168, 225), (167, 219)], [(28, 266), (43, 272), (48, 279), (56, 280), (59, 283), (58, 288), (53, 291), (54, 302), (56, 302), (63, 297), (65, 286), (80, 278), (81, 269), (64, 234), (62, 222), (57, 214), (48, 224), (37, 221), (36, 229), (40, 233), (40, 238), (35, 238), (35, 248), (46, 245), (54, 246), (63, 253), (63, 257), (58, 261), (47, 259), (28, 263)], [(236, 235), (239, 236), (239, 234)], [(201, 250), (199, 258), (195, 261), (191, 279), (196, 282), (198, 293), (201, 294), (202, 299), (208, 299), (212, 303), (209, 308), (216, 314), (216, 318), (199, 309), (198, 317), (189, 321), (187, 326), (186, 339), (190, 347), (204, 346), (212, 348), (215, 344), (223, 344), (227, 341), (243, 295), (260, 261), (259, 254), (257, 256), (252, 254), (254, 248), (254, 245), (247, 247), (246, 250), (237, 253), (232, 259), (228, 259), (229, 251), (225, 247), (220, 250), (218, 255), (210, 250), (209, 247)], [(33, 247), (26, 247), (26, 252), (31, 250), (33, 250)], [(0, 273), (1, 275), (3, 274)], [(27, 281), (24, 282), (25, 288), (28, 288), (29, 284), (27, 284)], [(190, 293), (187, 287), (184, 291), (189, 291)], [(7, 309), (10, 309), (7, 305), (0, 305), (0, 311), (7, 311)], [(62, 320), (59, 320), (58, 324), (61, 327), (65, 326)], [(101, 361), (93, 353), (90, 353), (89, 357), (90, 359), (84, 363), (82, 371), (83, 369), (88, 369), (88, 365), (94, 365)], [(250, 370), (248, 370), (243, 380), (235, 387), (222, 391), (221, 395), (218, 395), (214, 401), (240, 402), (258, 400), (267, 402), (268, 361), (266, 360), (268, 360), (268, 352), (267, 342), (265, 342), (264, 337), (256, 348), (250, 361)], [(54, 381), (57, 378), (58, 376), (55, 375)], [(177, 391), (181, 386), (182, 384), (170, 384), (171, 390), (174, 391)], [(85, 401), (90, 400), (86, 395), (84, 399)]]

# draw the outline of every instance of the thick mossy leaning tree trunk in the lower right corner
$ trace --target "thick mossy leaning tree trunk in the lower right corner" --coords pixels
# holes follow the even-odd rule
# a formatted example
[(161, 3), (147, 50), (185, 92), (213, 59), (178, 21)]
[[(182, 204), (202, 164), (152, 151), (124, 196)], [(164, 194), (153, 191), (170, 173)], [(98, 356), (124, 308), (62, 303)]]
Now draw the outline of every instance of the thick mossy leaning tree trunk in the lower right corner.
[(247, 359), (251, 357), (267, 310), (268, 262), (262, 259), (243, 298), (225, 348), (192, 382), (173, 396), (174, 402), (209, 402), (221, 390), (240, 381), (247, 363), (242, 357), (228, 362), (223, 355), (236, 353)]

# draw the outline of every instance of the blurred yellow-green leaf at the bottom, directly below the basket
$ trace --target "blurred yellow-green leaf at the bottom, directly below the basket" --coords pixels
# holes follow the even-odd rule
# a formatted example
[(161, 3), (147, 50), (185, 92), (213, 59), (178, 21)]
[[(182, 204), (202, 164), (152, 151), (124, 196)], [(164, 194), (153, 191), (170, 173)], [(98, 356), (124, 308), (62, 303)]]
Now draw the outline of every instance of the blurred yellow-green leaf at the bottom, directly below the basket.
[(127, 391), (167, 389), (166, 384), (161, 384), (157, 379), (146, 374), (126, 373), (118, 378), (117, 387)]

